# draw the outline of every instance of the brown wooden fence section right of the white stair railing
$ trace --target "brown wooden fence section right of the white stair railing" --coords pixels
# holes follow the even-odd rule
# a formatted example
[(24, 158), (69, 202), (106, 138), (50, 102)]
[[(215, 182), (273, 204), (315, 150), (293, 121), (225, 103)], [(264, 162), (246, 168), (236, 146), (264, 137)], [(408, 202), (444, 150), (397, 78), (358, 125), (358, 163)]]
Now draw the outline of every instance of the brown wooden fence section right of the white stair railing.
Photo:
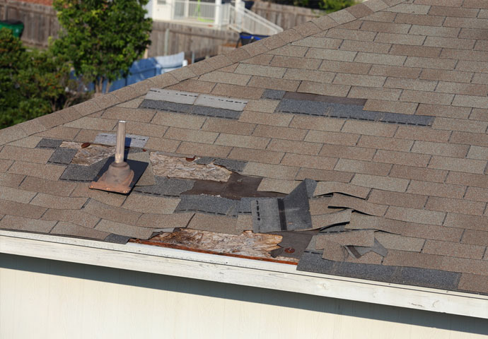
[(251, 11), (279, 25), (284, 30), (325, 15), (323, 11), (311, 8), (272, 4), (267, 1), (256, 1), (252, 5)]

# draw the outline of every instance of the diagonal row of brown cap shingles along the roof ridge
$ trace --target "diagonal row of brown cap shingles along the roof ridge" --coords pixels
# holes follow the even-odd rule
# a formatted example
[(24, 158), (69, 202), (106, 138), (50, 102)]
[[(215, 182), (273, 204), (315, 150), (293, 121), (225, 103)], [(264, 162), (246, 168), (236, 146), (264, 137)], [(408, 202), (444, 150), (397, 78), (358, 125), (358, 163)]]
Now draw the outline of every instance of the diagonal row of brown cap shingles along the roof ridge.
[(125, 86), (105, 95), (93, 97), (78, 105), (67, 107), (42, 117), (7, 127), (6, 129), (1, 129), (0, 145), (5, 145), (6, 143), (17, 141), (35, 133), (47, 131), (48, 129), (66, 124), (81, 117), (86, 117), (89, 114), (99, 112), (103, 109), (120, 105), (123, 102), (145, 95), (150, 88), (166, 88), (181, 81), (201, 76), (204, 73), (223, 69), (226, 66), (231, 66), (240, 61), (265, 54), (272, 49), (277, 49), (291, 42), (315, 35), (323, 30), (349, 23), (406, 1), (409, 0), (368, 0), (296, 25), (294, 28), (289, 28), (266, 39), (238, 47), (231, 52), (216, 55), (215, 57), (199, 61), (196, 64), (190, 64), (181, 69), (175, 69), (159, 76), (139, 81), (139, 83)]

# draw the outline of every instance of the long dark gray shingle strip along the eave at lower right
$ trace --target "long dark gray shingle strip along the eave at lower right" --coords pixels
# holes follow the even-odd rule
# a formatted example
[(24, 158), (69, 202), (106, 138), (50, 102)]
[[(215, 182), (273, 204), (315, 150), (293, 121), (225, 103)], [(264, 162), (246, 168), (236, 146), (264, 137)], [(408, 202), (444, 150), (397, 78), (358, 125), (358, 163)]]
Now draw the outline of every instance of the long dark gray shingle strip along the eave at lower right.
[(301, 256), (296, 269), (443, 290), (456, 290), (460, 279), (460, 273), (443, 270), (330, 261), (323, 259), (320, 253), (308, 250)]

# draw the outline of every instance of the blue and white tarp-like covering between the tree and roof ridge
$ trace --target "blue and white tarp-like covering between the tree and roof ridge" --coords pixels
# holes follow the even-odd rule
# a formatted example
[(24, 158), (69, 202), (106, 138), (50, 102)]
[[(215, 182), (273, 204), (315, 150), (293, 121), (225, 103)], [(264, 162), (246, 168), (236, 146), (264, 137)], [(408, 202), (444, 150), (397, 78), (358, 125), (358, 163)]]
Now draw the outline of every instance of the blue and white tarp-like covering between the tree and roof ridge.
[[(129, 76), (127, 78), (122, 78), (114, 81), (110, 85), (109, 92), (112, 90), (118, 90), (127, 85), (132, 85), (133, 83), (138, 83), (139, 81), (146, 80), (153, 76), (158, 76), (173, 69), (180, 69), (185, 63), (185, 52), (180, 52), (178, 54), (168, 55), (165, 57), (153, 57), (149, 59), (141, 59), (134, 61), (131, 68), (129, 69)], [(105, 92), (105, 87), (107, 82), (103, 83), (103, 91)], [(88, 85), (88, 90), (94, 90), (95, 86), (93, 83)]]

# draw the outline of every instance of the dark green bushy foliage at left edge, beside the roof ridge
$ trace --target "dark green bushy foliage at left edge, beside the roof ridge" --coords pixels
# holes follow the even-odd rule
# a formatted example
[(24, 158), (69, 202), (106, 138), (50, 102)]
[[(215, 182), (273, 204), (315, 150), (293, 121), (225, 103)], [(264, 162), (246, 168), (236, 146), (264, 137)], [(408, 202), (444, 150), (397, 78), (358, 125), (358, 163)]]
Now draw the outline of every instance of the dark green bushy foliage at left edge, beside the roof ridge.
[(54, 56), (52, 49), (29, 52), (11, 30), (2, 28), (0, 54), (0, 129), (86, 97), (79, 84), (69, 79), (69, 63)]

